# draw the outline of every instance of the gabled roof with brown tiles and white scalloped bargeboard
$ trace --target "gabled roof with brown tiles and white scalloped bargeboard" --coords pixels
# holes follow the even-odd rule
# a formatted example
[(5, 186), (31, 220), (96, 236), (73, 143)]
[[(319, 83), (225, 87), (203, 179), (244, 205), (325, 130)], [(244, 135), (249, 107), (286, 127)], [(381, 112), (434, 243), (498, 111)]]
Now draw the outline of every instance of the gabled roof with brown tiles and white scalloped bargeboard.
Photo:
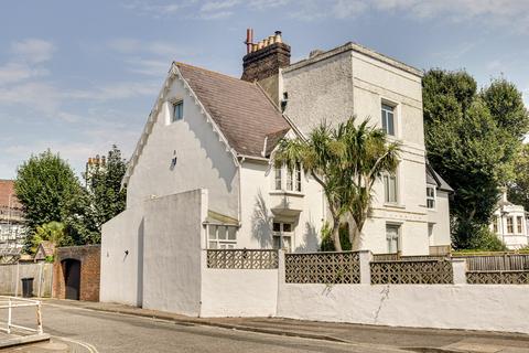
[(288, 118), (257, 83), (183, 63), (173, 63), (130, 158), (122, 184), (128, 183), (152, 131), (156, 115), (168, 98), (169, 87), (176, 77), (184, 82), (190, 96), (202, 107), (201, 111), (213, 125), (213, 129), (220, 135), (220, 141), (224, 141), (226, 150), (231, 151), (234, 158), (268, 157), (292, 128)]

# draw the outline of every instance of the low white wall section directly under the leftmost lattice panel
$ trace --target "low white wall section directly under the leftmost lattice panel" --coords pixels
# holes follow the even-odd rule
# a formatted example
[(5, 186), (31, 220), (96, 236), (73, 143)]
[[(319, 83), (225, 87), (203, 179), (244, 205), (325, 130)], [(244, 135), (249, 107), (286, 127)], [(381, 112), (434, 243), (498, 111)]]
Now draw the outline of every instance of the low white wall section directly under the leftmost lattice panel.
[(277, 269), (207, 268), (203, 252), (201, 317), (273, 317)]

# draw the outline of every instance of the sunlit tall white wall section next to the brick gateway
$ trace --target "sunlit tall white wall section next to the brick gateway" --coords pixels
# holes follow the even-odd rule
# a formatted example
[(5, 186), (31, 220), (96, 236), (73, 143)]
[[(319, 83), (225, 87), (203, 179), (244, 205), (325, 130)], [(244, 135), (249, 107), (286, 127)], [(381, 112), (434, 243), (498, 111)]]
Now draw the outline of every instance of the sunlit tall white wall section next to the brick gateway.
[(142, 303), (143, 212), (129, 207), (102, 225), (100, 301)]

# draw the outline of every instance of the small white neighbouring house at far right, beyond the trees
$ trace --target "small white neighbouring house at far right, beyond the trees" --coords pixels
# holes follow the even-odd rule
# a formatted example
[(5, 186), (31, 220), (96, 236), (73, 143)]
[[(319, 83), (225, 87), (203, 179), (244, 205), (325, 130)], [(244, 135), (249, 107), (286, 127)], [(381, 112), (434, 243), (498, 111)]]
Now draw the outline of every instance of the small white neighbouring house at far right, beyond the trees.
[(489, 228), (509, 250), (517, 250), (529, 245), (526, 215), (523, 206), (508, 201), (507, 190), (501, 190), (501, 197), (494, 211)]

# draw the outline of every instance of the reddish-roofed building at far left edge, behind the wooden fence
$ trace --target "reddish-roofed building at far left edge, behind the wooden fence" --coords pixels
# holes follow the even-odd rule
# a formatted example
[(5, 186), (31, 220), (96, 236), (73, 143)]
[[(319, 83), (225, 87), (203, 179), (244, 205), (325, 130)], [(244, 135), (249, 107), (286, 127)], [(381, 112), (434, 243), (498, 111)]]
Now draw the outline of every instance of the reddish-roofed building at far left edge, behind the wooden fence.
[(13, 180), (0, 180), (0, 256), (19, 253), (24, 244), (24, 212)]

